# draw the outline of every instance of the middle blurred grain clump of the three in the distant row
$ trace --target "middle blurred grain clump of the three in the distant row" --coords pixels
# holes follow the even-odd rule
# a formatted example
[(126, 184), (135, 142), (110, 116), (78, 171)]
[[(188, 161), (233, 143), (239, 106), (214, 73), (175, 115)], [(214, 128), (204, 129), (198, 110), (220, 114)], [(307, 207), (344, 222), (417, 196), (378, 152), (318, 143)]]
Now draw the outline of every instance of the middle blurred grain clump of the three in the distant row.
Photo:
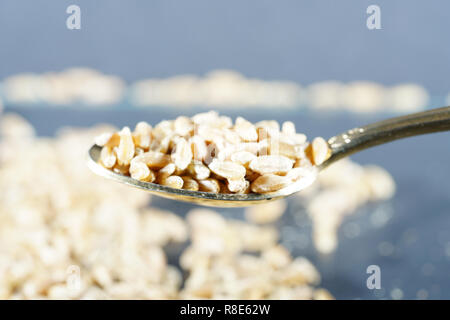
[(305, 99), (303, 88), (295, 82), (250, 79), (233, 70), (214, 70), (204, 77), (143, 79), (135, 82), (130, 91), (133, 103), (142, 107), (293, 108)]

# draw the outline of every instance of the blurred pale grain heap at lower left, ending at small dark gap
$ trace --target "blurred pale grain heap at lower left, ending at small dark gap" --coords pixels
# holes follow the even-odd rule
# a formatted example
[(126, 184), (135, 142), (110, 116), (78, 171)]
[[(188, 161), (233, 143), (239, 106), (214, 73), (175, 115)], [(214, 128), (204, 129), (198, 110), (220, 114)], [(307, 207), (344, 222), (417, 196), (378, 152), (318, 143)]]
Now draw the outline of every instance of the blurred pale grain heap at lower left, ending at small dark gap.
[(35, 138), (20, 117), (3, 117), (0, 297), (177, 297), (181, 277), (161, 246), (185, 241), (185, 224), (86, 170), (86, 146), (103, 129)]

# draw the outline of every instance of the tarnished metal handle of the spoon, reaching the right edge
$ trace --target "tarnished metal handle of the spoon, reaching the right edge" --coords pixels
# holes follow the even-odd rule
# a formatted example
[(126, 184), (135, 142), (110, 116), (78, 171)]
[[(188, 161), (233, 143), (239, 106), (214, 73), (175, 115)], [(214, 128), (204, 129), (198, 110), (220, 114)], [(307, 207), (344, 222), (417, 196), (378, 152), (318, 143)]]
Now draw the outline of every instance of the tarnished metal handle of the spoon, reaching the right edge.
[(322, 167), (326, 167), (355, 152), (379, 144), (448, 130), (450, 130), (450, 107), (432, 109), (375, 122), (331, 137), (328, 140), (331, 156), (322, 164)]

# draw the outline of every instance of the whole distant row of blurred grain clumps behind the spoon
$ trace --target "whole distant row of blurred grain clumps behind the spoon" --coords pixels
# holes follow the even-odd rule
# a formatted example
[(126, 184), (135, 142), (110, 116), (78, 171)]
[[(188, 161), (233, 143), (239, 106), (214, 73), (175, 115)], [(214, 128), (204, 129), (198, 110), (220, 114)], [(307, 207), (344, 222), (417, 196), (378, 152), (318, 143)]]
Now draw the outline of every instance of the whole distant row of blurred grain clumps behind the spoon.
[(357, 113), (414, 112), (427, 107), (427, 90), (416, 83), (384, 86), (372, 81), (320, 81), (308, 86), (288, 80), (249, 78), (234, 70), (204, 76), (175, 75), (137, 80), (127, 86), (118, 76), (89, 68), (42, 74), (22, 73), (3, 79), (1, 94), (10, 104), (88, 107), (121, 101), (139, 107), (285, 108), (346, 110)]

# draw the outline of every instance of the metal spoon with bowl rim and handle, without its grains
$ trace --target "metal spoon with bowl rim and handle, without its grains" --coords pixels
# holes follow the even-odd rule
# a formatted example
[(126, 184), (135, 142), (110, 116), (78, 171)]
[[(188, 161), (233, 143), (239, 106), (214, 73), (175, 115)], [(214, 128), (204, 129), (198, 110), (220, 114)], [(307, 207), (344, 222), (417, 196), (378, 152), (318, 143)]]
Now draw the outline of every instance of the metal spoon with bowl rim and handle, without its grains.
[(88, 167), (99, 176), (143, 189), (164, 198), (213, 207), (246, 207), (285, 198), (307, 188), (316, 180), (321, 170), (353, 153), (406, 137), (448, 130), (450, 130), (450, 107), (413, 113), (348, 130), (328, 139), (331, 155), (323, 164), (307, 170), (302, 178), (290, 186), (266, 194), (190, 191), (135, 180), (101, 166), (99, 164), (101, 147), (97, 145), (93, 145), (89, 149)]

